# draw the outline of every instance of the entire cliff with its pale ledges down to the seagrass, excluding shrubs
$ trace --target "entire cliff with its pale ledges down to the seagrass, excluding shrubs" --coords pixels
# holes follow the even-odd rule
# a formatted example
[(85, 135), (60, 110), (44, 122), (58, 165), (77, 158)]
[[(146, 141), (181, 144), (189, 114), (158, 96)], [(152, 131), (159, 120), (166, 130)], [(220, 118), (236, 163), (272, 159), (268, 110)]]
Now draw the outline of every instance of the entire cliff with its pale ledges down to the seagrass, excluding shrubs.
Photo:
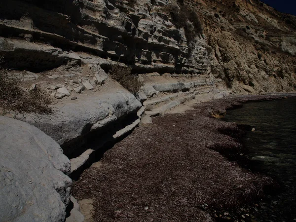
[[(75, 177), (96, 150), (186, 101), (295, 91), (296, 17), (259, 0), (2, 0), (2, 60), (53, 101), (51, 114), (7, 116), (52, 137)], [(114, 80), (116, 66), (140, 91)]]

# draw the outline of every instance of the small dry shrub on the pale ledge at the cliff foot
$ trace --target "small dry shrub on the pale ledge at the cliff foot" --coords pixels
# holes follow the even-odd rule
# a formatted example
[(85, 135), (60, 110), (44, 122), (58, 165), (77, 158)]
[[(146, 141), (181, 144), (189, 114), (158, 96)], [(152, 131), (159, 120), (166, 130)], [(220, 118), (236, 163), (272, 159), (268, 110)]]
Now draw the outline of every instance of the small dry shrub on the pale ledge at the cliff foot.
[(144, 83), (138, 76), (131, 74), (132, 68), (123, 67), (120, 65), (112, 66), (110, 70), (111, 77), (119, 82), (124, 88), (131, 93), (135, 94), (139, 92)]

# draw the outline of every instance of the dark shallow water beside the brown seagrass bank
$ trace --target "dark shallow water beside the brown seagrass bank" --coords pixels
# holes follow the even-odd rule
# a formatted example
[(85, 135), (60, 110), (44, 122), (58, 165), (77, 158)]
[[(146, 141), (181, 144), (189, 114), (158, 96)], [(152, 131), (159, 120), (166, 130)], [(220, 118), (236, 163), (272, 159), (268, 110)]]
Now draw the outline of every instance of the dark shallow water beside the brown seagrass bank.
[(296, 98), (252, 102), (227, 111), (224, 120), (249, 124), (242, 142), (248, 168), (279, 182), (281, 189), (251, 207), (245, 221), (296, 221)]

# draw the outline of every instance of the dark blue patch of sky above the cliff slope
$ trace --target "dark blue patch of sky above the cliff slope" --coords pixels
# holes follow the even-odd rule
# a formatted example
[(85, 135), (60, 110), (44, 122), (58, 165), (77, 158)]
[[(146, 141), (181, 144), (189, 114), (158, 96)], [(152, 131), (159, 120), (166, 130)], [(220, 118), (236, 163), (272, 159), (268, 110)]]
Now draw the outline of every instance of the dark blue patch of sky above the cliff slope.
[(261, 0), (280, 12), (296, 15), (296, 0)]

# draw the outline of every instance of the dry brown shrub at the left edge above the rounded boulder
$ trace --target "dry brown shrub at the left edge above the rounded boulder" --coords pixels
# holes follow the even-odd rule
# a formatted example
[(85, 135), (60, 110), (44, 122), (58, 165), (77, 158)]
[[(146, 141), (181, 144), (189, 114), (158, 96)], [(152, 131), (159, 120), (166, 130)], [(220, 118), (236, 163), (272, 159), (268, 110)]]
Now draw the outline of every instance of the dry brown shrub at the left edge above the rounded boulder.
[(50, 113), (49, 95), (35, 89), (25, 91), (20, 86), (20, 79), (8, 75), (7, 70), (0, 69), (0, 108), (2, 114), (9, 111)]

